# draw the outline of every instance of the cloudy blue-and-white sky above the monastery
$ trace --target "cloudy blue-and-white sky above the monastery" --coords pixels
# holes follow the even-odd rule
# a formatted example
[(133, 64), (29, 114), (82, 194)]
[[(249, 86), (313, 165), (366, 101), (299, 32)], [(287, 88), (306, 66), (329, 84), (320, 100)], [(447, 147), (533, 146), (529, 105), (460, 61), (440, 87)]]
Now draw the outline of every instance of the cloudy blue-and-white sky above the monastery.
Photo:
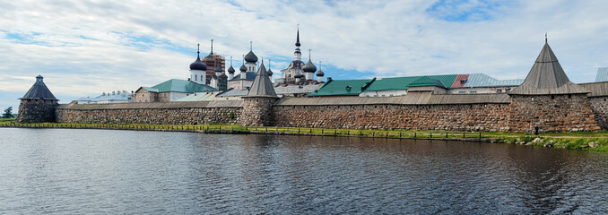
[[(604, 0), (0, 0), (0, 108), (38, 74), (60, 103), (187, 79), (196, 57), (253, 51), (277, 78), (293, 59), (336, 80), (486, 73), (524, 79), (548, 35), (572, 82), (608, 66)], [(230, 61), (229, 61), (230, 62)], [(266, 64), (266, 68), (268, 64)]]

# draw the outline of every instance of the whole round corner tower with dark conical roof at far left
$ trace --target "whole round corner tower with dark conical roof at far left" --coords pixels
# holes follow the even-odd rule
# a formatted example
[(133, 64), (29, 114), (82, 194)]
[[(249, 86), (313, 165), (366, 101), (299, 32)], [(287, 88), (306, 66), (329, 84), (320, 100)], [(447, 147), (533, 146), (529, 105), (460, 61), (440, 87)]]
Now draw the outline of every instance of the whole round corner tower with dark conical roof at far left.
[(58, 99), (48, 90), (42, 81), (42, 75), (36, 76), (36, 82), (21, 98), (16, 123), (55, 122), (55, 107)]

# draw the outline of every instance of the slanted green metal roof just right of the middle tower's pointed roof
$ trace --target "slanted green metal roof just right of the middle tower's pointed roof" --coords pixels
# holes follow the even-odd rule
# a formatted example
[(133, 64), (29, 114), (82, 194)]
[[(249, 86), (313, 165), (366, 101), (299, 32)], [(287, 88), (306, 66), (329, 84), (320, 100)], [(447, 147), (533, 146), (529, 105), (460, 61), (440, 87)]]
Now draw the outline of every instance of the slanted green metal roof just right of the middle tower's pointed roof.
[(364, 80), (331, 80), (318, 90), (308, 94), (308, 97), (317, 96), (356, 96), (375, 79)]

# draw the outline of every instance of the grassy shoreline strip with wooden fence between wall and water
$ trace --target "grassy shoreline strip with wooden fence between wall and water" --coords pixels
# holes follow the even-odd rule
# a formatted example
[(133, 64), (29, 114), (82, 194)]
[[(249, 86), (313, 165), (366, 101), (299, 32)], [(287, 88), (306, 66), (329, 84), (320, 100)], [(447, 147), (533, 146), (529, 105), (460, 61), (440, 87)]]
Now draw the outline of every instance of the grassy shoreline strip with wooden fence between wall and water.
[[(3, 122), (4, 121), (4, 122)], [(464, 142), (497, 142), (540, 146), (566, 150), (587, 150), (608, 153), (608, 132), (581, 133), (504, 133), (504, 132), (451, 132), (451, 131), (408, 131), (370, 129), (330, 129), (298, 128), (278, 126), (240, 125), (114, 125), (114, 124), (59, 124), (36, 123), (14, 124), (11, 120), (0, 121), (0, 127), (16, 128), (69, 128), (69, 129), (109, 129), (157, 132), (225, 133), (225, 134), (274, 134), (308, 136), (343, 136), (385, 139), (439, 140)]]

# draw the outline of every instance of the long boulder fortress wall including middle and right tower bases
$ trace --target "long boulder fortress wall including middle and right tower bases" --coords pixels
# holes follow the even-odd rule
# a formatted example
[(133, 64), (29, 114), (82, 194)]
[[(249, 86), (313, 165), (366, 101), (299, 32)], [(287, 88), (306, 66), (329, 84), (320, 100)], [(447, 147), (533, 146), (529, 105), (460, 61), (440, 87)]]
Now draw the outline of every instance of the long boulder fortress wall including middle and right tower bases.
[(595, 131), (608, 126), (608, 101), (604, 101), (608, 97), (587, 99), (585, 95), (575, 94), (534, 96), (532, 100), (532, 96), (512, 95), (496, 103), (479, 97), (454, 98), (437, 101), (447, 104), (436, 104), (432, 98), (416, 100), (418, 103), (398, 98), (277, 101), (263, 98), (248, 102), (68, 104), (56, 107), (55, 116), (58, 123), (239, 124), (383, 130), (533, 132), (538, 126), (541, 132), (571, 132)]

